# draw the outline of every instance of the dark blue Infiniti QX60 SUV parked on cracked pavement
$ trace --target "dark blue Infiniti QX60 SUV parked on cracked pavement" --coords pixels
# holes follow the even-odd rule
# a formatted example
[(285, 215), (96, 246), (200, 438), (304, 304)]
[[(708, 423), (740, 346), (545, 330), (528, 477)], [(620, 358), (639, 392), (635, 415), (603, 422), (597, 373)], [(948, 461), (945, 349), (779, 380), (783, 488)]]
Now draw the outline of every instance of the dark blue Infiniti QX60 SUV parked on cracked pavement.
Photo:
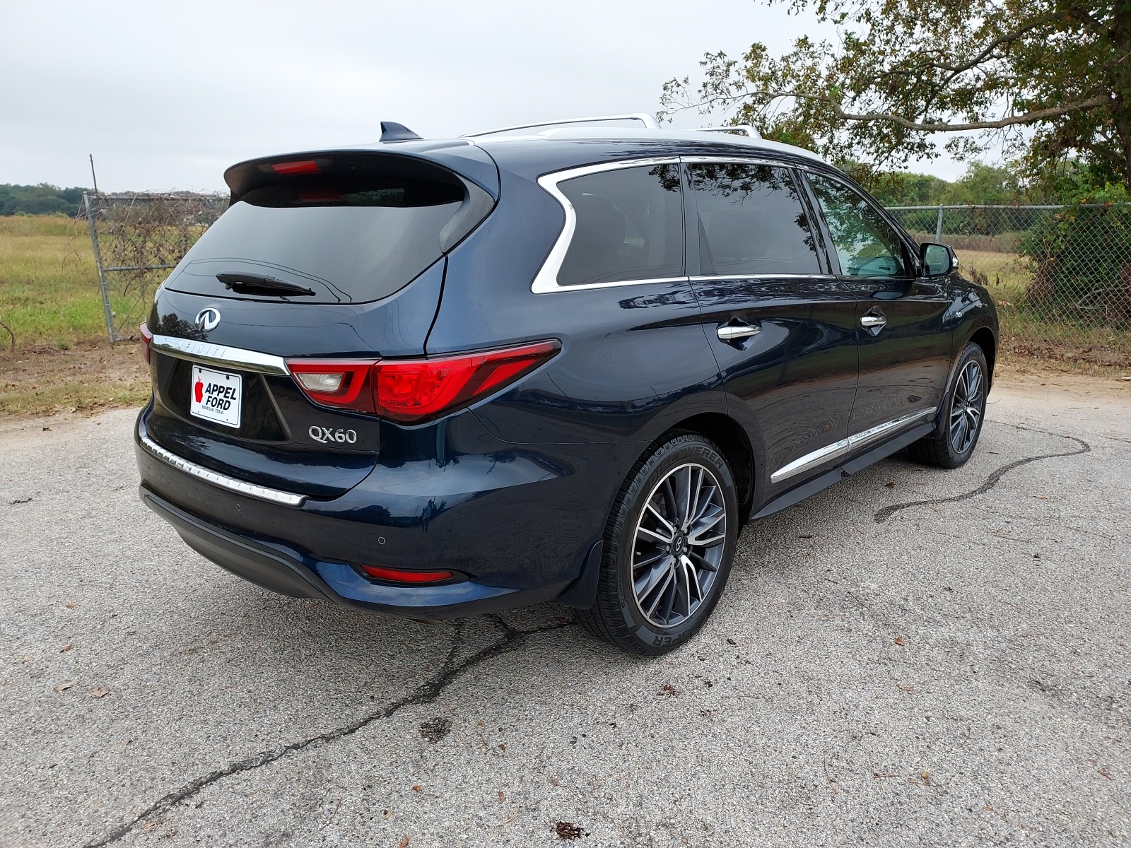
[(231, 167), (143, 327), (141, 497), (228, 571), (413, 617), (553, 600), (655, 655), (748, 521), (973, 452), (993, 302), (813, 154), (383, 129)]

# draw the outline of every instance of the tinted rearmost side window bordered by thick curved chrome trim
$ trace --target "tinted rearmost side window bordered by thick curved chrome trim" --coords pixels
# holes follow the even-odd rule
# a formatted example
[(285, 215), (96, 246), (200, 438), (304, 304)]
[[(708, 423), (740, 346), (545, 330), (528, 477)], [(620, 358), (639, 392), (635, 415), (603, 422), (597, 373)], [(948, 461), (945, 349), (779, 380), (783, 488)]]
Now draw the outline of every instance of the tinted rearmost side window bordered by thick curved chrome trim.
[(602, 171), (558, 188), (577, 214), (559, 285), (683, 275), (679, 165)]

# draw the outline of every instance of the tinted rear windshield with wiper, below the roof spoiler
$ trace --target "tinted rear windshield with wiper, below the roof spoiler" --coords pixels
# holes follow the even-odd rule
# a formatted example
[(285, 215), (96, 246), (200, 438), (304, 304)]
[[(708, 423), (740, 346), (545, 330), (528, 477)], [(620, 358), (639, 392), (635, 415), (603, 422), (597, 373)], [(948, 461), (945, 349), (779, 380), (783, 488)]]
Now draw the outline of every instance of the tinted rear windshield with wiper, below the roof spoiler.
[(386, 297), (443, 254), (441, 233), (465, 197), (455, 176), (449, 182), (326, 174), (253, 188), (208, 228), (167, 285), (245, 296), (233, 294), (216, 275), (251, 274), (312, 293), (287, 300)]

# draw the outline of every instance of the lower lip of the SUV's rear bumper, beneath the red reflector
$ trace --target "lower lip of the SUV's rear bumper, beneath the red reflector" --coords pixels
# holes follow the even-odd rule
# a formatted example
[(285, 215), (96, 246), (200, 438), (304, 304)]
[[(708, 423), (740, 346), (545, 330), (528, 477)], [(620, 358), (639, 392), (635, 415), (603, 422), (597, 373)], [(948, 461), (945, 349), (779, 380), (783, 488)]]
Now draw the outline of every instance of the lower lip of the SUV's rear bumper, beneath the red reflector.
[(139, 494), (201, 556), (236, 577), (293, 598), (319, 598), (417, 618), (457, 618), (552, 600), (570, 583), (525, 590), (484, 586), (474, 580), (420, 587), (374, 583), (347, 563), (323, 562), (282, 542), (221, 527), (175, 507), (145, 484)]

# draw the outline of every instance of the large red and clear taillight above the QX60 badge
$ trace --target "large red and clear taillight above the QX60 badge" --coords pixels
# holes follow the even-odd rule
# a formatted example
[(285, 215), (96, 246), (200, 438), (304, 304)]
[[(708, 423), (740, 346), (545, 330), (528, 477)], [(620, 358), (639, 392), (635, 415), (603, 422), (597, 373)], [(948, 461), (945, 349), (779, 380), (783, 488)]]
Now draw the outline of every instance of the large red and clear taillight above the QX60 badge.
[(316, 404), (421, 424), (503, 389), (560, 349), (537, 341), (420, 360), (288, 360), (287, 367)]

